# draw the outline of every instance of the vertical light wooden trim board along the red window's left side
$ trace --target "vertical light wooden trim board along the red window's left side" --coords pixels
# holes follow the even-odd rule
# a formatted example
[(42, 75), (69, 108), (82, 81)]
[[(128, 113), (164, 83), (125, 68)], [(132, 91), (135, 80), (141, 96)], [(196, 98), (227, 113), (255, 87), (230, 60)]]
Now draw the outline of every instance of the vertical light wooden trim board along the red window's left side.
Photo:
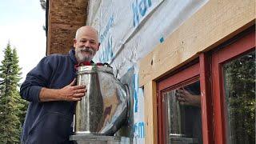
[(158, 143), (158, 118), (157, 118), (157, 90), (156, 82), (148, 82), (144, 86), (144, 106), (145, 106), (145, 123), (146, 136), (145, 143)]

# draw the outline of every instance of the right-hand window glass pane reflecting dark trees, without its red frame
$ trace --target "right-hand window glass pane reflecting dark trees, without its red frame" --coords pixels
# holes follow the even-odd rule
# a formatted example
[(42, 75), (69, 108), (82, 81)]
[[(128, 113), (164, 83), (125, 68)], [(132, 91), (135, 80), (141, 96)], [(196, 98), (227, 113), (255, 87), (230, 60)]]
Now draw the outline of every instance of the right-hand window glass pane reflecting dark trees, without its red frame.
[(255, 51), (224, 64), (227, 143), (255, 143)]

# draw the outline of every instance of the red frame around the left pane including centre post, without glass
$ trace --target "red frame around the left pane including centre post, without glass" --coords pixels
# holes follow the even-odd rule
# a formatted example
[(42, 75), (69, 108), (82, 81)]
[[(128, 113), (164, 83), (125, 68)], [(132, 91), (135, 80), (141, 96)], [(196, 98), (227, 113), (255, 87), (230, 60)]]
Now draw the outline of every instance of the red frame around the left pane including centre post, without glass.
[[(186, 86), (192, 82), (197, 80), (200, 81), (200, 89), (201, 89), (201, 107), (202, 107), (202, 139), (204, 143), (213, 143), (213, 138), (211, 135), (213, 134), (212, 128), (212, 111), (211, 108), (211, 95), (210, 95), (210, 70), (209, 70), (209, 58), (206, 54), (200, 54), (199, 56), (200, 62), (194, 62), (190, 66), (183, 68), (183, 70), (176, 70), (177, 73), (174, 72), (169, 78), (160, 80), (157, 84), (158, 90), (158, 143), (166, 143), (165, 138), (165, 115), (164, 108), (162, 106), (162, 93), (166, 92), (166, 90), (174, 90), (180, 86)], [(199, 77), (200, 75), (200, 77)]]

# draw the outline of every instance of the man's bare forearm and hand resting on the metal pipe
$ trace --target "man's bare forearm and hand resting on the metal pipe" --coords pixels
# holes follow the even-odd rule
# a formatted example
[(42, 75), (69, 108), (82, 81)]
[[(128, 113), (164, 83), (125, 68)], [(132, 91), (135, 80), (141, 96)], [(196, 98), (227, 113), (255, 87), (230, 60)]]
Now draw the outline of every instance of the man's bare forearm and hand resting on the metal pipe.
[(80, 101), (86, 94), (86, 86), (75, 86), (76, 78), (62, 89), (47, 89), (43, 87), (39, 94), (40, 102), (49, 101)]

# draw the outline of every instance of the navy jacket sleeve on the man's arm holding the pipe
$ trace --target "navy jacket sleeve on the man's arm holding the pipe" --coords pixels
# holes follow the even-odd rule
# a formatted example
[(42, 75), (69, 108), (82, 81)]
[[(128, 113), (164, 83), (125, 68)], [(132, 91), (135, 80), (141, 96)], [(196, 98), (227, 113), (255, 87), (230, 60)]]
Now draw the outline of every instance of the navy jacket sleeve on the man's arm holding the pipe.
[(51, 64), (54, 59), (51, 56), (42, 58), (33, 70), (26, 75), (20, 88), (20, 95), (29, 102), (40, 102), (39, 94), (42, 87), (47, 87), (53, 73)]

